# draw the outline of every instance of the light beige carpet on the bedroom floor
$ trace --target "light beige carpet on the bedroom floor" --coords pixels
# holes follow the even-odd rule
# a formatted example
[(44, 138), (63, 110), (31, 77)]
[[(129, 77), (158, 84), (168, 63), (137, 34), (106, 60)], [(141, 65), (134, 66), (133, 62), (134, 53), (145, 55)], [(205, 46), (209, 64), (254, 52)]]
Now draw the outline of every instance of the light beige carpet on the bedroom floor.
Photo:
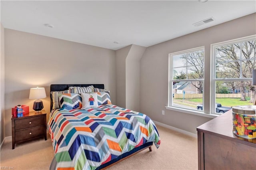
[[(153, 145), (108, 168), (109, 170), (197, 170), (197, 139), (168, 128), (157, 126), (161, 138), (158, 149)], [(12, 150), (9, 138), (1, 148), (0, 166), (14, 170), (47, 170), (54, 157), (52, 142), (48, 134), (38, 140), (16, 144)]]

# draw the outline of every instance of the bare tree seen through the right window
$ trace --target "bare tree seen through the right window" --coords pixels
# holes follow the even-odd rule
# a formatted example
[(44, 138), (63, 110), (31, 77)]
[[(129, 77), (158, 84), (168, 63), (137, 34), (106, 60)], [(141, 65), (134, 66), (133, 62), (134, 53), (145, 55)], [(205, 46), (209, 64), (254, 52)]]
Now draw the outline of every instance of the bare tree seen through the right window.
[[(256, 69), (256, 40), (234, 43), (216, 48), (216, 78), (252, 78)], [(230, 81), (230, 89), (237, 85)], [(256, 89), (252, 81), (240, 81), (241, 101), (246, 101), (246, 88), (250, 89), (250, 103), (255, 101)]]

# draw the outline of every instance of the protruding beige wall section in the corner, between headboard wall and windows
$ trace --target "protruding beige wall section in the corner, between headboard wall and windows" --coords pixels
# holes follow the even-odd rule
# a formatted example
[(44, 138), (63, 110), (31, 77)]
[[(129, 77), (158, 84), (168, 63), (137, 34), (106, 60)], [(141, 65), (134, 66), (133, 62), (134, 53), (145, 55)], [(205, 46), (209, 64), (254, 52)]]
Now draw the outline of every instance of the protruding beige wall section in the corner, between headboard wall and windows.
[(116, 50), (116, 104), (140, 111), (140, 59), (146, 47), (129, 45)]

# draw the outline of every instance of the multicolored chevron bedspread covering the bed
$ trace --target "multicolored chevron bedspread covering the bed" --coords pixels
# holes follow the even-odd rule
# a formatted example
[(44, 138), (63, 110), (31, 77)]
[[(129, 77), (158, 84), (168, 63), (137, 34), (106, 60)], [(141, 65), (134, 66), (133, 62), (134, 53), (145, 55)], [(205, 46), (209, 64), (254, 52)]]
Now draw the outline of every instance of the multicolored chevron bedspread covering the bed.
[(153, 121), (116, 105), (87, 110), (53, 110), (48, 121), (57, 169), (94, 170), (146, 142), (158, 148)]

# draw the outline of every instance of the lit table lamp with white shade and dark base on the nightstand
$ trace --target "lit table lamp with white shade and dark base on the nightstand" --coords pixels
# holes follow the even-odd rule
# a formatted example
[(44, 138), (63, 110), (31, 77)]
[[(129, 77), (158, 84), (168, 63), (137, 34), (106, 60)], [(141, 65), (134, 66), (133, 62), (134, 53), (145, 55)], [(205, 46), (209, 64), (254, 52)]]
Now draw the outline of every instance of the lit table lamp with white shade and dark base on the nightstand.
[(40, 100), (42, 98), (46, 98), (44, 87), (30, 88), (29, 99), (36, 99), (33, 105), (36, 113), (41, 112), (44, 108), (43, 102)]

